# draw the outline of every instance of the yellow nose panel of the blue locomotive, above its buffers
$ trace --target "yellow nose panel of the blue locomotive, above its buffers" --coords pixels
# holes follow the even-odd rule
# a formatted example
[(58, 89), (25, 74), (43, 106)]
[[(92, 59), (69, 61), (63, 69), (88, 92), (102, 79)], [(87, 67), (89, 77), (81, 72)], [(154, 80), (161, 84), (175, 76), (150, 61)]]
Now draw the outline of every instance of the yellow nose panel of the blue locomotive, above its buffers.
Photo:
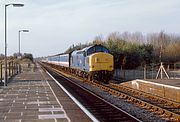
[(112, 71), (113, 56), (107, 53), (95, 53), (89, 57), (90, 71)]

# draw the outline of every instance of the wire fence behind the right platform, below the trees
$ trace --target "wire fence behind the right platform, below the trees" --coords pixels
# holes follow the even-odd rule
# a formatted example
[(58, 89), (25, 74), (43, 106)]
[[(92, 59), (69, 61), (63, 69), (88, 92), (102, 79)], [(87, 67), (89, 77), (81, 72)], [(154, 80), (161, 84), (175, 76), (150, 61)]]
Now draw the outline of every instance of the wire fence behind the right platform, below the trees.
[[(163, 65), (164, 70), (160, 68), (160, 64), (154, 64), (151, 66), (141, 66), (137, 69), (115, 69), (114, 70), (114, 79), (115, 80), (134, 80), (134, 79), (156, 79), (156, 78), (167, 78), (165, 72), (168, 74), (171, 79), (180, 79), (180, 68), (170, 67), (169, 65)], [(159, 75), (157, 77), (159, 71)], [(161, 74), (162, 73), (162, 74)]]

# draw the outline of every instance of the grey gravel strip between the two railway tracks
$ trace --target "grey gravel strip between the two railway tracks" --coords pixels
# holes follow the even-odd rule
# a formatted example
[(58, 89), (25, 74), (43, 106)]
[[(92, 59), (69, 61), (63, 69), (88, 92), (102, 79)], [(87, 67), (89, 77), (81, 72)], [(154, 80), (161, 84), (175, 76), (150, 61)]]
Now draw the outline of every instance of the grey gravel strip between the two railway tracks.
[(100, 88), (94, 87), (86, 82), (81, 82), (75, 79), (73, 81), (77, 82), (79, 85), (85, 87), (86, 89), (93, 91), (95, 94), (104, 98), (106, 101), (114, 104), (115, 106), (121, 108), (132, 116), (138, 118), (141, 121), (146, 122), (166, 122), (167, 120), (160, 118), (158, 115), (149, 112), (146, 109), (136, 106), (133, 103), (127, 102), (124, 99), (118, 98), (117, 96), (111, 95), (108, 92), (101, 90)]

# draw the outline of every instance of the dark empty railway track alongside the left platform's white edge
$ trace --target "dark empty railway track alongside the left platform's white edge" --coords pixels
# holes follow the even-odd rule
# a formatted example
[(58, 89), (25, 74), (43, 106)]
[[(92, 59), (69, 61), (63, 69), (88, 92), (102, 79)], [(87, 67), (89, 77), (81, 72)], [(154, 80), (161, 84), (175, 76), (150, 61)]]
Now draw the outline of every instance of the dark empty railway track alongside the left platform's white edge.
[(65, 78), (52, 68), (43, 65), (46, 70), (65, 87), (78, 101), (101, 122), (140, 121), (118, 107), (108, 103), (91, 91)]

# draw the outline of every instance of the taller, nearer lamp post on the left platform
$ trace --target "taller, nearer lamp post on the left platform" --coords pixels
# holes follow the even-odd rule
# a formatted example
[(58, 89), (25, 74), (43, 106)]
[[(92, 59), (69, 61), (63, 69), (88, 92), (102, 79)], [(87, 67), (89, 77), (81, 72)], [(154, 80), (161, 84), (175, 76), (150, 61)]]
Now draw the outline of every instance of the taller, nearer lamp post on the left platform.
[(13, 7), (23, 7), (24, 4), (6, 4), (5, 5), (5, 57), (4, 57), (4, 65), (5, 65), (5, 73), (4, 73), (4, 86), (7, 86), (7, 22), (6, 22), (6, 12), (7, 12), (7, 7), (12, 5)]

